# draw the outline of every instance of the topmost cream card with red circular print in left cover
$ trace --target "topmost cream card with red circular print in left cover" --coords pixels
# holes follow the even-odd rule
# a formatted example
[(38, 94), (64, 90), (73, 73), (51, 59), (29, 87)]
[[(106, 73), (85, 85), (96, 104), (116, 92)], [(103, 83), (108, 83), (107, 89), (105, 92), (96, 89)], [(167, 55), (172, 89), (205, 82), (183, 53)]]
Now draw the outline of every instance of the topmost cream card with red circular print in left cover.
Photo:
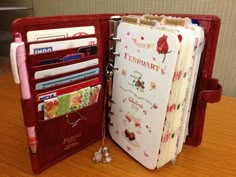
[(90, 34), (95, 34), (94, 26), (36, 30), (27, 32), (27, 41), (34, 42), (75, 36), (86, 36)]

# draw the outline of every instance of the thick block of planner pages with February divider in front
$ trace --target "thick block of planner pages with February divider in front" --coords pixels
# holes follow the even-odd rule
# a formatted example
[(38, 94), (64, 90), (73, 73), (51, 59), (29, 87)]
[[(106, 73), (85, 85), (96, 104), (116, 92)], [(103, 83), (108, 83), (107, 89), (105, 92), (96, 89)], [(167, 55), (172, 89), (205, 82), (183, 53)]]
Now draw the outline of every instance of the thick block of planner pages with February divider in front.
[[(119, 55), (114, 62), (109, 130), (126, 152), (154, 169), (175, 159), (177, 147), (183, 144), (177, 140), (185, 132), (182, 117), (191, 104), (185, 103), (187, 92), (194, 91), (189, 87), (196, 80), (190, 78), (191, 68), (199, 63), (193, 65), (194, 50), (200, 47), (195, 43), (203, 43), (204, 38), (195, 35), (195, 28), (200, 27), (189, 19), (163, 16), (148, 24), (151, 17), (155, 18), (125, 17), (117, 28), (120, 41), (115, 52)], [(164, 24), (163, 20), (172, 22)], [(179, 20), (185, 24), (175, 25)]]

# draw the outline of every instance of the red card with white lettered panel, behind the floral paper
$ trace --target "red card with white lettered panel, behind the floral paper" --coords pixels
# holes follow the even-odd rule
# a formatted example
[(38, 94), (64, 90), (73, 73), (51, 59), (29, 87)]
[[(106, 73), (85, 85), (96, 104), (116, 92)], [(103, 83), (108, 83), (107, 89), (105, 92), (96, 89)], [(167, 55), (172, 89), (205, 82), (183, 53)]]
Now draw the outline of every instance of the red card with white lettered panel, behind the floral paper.
[(78, 84), (74, 84), (74, 85), (70, 85), (70, 86), (67, 86), (67, 87), (52, 90), (52, 91), (49, 91), (49, 92), (40, 93), (40, 94), (36, 95), (36, 100), (37, 101), (43, 101), (43, 100), (50, 99), (50, 98), (53, 98), (53, 97), (56, 97), (56, 96), (59, 96), (59, 95), (65, 94), (65, 93), (69, 93), (69, 92), (72, 92), (72, 91), (79, 90), (83, 87), (94, 86), (94, 85), (97, 85), (99, 83), (100, 83), (99, 78), (91, 79), (91, 80), (84, 81), (84, 82), (81, 82), (81, 83), (78, 83)]

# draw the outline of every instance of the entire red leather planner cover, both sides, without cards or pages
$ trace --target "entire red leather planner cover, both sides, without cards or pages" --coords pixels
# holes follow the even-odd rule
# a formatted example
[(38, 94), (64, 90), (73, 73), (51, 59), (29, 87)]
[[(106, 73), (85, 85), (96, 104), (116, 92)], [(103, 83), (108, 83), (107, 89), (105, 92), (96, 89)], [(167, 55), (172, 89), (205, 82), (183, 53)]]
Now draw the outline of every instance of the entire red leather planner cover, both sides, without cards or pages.
[[(32, 98), (29, 100), (22, 100), (22, 109), (25, 126), (35, 126), (36, 129), (36, 138), (38, 140), (37, 153), (33, 154), (30, 151), (32, 169), (35, 173), (39, 173), (62, 160), (63, 158), (66, 158), (78, 150), (85, 148), (91, 143), (99, 140), (102, 136), (100, 125), (103, 119), (104, 111), (106, 112), (106, 108), (104, 107), (104, 102), (106, 101), (106, 79), (104, 71), (108, 61), (108, 20), (112, 15), (117, 14), (33, 17), (17, 19), (12, 24), (13, 34), (20, 32), (26, 46), (27, 69)], [(195, 90), (190, 118), (190, 134), (187, 138), (187, 144), (199, 145), (202, 140), (206, 103), (219, 101), (222, 92), (222, 87), (218, 84), (218, 81), (211, 78), (220, 28), (220, 19), (216, 16), (210, 15), (171, 15), (190, 17), (192, 19), (198, 20), (205, 31), (206, 47), (204, 50), (204, 55), (201, 59), (200, 72), (198, 75), (197, 87)], [(87, 120), (80, 123), (79, 126), (76, 126), (76, 128), (71, 128), (68, 124), (66, 124), (65, 116), (60, 116), (56, 119), (45, 121), (42, 119), (42, 114), (37, 113), (37, 106), (35, 105), (36, 100), (34, 100), (35, 95), (38, 93), (34, 87), (35, 84), (40, 80), (34, 80), (32, 76), (34, 74), (33, 61), (36, 61), (40, 58), (29, 55), (29, 45), (31, 43), (27, 43), (26, 34), (28, 31), (32, 30), (89, 25), (95, 26), (96, 29), (96, 34), (94, 36), (97, 38), (97, 57), (99, 58), (100, 68), (100, 73), (97, 77), (100, 79), (102, 85), (98, 102), (95, 105), (80, 111), (82, 115), (87, 117)], [(53, 57), (54, 53), (49, 55)], [(62, 76), (63, 75), (66, 74), (62, 74)], [(66, 85), (67, 84), (65, 84), (65, 86)], [(72, 113), (72, 117), (73, 116), (76, 116), (75, 113)], [(78, 141), (78, 144), (65, 150), (65, 144), (63, 144), (63, 142), (69, 142), (69, 138), (73, 139), (73, 137), (76, 139), (76, 141)]]

